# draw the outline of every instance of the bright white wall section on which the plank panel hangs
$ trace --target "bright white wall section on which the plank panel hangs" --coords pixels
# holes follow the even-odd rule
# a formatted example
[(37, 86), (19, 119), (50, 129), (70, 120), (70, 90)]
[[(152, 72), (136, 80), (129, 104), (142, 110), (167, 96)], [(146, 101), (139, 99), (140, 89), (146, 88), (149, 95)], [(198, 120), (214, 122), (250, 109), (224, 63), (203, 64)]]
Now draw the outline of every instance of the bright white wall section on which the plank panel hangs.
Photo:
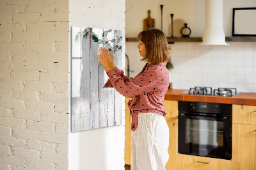
[[(83, 26), (118, 29), (125, 37), (125, 0), (74, 0), (69, 4), (70, 28)], [(124, 54), (125, 48), (122, 53), (123, 59)], [(124, 116), (122, 122), (123, 125), (116, 127), (70, 132), (69, 169), (124, 169)]]

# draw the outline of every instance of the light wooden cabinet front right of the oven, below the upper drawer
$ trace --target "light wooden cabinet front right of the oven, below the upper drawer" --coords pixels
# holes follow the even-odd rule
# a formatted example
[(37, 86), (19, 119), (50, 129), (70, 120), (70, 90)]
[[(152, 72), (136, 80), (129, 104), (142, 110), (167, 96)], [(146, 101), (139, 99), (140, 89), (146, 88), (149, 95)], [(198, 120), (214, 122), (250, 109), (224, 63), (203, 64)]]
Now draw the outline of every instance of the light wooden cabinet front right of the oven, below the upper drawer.
[(256, 170), (256, 125), (233, 124), (232, 169)]

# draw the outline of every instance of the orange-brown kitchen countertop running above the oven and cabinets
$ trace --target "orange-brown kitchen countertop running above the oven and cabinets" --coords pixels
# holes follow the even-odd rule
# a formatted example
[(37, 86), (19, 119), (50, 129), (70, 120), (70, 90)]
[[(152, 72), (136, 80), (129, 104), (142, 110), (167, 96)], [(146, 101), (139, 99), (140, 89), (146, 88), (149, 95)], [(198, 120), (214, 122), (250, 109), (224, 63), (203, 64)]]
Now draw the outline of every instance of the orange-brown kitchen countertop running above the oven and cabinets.
[(184, 91), (188, 91), (188, 89), (168, 89), (167, 93), (164, 96), (164, 99), (188, 102), (207, 102), (217, 104), (256, 105), (256, 93), (239, 93), (234, 97), (218, 97), (207, 95), (180, 94)]

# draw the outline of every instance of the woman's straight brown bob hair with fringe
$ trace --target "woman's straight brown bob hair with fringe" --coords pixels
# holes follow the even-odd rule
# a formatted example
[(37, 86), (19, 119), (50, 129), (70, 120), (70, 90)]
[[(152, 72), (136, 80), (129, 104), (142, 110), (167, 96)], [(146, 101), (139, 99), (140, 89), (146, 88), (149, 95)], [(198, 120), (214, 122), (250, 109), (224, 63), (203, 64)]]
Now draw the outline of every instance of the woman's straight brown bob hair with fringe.
[(146, 55), (140, 59), (141, 61), (161, 63), (171, 60), (168, 43), (163, 31), (155, 28), (147, 29), (146, 31), (141, 31), (137, 38), (146, 46)]

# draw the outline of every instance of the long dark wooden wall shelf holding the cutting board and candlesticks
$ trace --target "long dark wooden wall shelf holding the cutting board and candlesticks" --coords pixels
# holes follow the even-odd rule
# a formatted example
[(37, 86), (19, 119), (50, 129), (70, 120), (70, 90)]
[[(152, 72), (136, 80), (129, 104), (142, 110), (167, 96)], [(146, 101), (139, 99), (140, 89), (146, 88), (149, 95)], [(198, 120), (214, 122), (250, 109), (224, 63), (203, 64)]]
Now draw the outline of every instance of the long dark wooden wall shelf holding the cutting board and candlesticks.
[[(166, 37), (168, 43), (202, 42), (202, 37)], [(138, 42), (137, 38), (125, 38), (125, 42)], [(256, 36), (228, 36), (226, 42), (256, 42)]]

